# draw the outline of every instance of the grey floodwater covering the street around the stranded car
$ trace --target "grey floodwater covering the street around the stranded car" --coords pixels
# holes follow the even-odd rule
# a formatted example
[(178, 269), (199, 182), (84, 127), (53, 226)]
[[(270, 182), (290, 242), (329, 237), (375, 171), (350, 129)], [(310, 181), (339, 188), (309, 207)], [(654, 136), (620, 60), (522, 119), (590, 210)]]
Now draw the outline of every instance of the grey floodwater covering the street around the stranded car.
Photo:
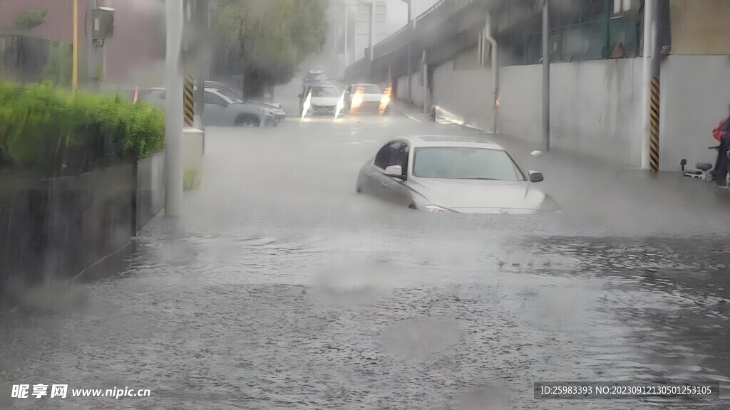
[[(185, 193), (183, 219), (153, 218), (61, 298), (0, 317), (3, 390), (150, 397), (1, 395), (0, 409), (730, 406), (727, 390), (720, 401), (533, 398), (541, 381), (727, 389), (730, 238), (713, 231), (724, 225), (657, 206), (661, 223), (645, 235), (613, 233), (601, 223), (615, 214), (572, 219), (571, 204), (595, 192), (561, 190), (573, 182), (548, 169), (565, 215), (399, 209), (356, 194), (366, 160), (393, 136), (475, 131), (396, 112), (299, 123), (296, 101), (281, 101), (290, 118), (277, 128), (208, 128), (204, 181)], [(612, 228), (650, 220), (619, 219), (627, 226)]]

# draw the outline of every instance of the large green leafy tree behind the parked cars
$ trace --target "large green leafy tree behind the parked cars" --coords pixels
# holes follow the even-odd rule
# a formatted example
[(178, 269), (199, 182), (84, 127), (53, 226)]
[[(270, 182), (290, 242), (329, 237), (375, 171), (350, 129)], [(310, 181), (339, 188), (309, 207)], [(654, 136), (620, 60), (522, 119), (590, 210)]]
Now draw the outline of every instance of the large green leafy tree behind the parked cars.
[(242, 75), (245, 96), (288, 82), (327, 40), (327, 0), (220, 0), (215, 74)]

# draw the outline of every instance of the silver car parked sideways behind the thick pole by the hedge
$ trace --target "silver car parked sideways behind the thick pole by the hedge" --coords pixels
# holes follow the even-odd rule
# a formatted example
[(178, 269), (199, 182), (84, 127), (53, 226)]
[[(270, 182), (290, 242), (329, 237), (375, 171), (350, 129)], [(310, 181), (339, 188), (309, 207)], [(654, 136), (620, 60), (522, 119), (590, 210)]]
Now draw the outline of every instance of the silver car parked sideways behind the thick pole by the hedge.
[[(218, 88), (205, 88), (203, 98), (205, 104), (203, 123), (205, 125), (264, 127), (266, 125), (276, 125), (277, 123), (272, 109), (240, 103), (221, 93)], [(165, 89), (148, 88), (140, 91), (139, 99), (150, 101), (156, 107), (164, 109)]]

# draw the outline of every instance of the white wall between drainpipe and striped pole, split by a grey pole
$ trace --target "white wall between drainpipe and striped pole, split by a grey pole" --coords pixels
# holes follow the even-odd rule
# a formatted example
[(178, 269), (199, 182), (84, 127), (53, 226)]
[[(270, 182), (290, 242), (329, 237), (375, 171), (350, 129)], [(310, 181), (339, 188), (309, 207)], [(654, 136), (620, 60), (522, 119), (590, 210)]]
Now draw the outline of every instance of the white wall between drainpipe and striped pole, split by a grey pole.
[[(550, 67), (551, 145), (641, 165), (642, 62), (638, 58)], [(502, 67), (499, 131), (542, 141), (542, 66)]]

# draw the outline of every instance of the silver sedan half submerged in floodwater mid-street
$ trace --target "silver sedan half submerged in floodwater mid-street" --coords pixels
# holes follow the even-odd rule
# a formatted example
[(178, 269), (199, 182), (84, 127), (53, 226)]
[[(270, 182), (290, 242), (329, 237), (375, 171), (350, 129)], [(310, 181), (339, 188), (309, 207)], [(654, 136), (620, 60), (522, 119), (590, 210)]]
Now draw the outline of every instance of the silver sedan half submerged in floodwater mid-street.
[(358, 175), (358, 193), (411, 209), (469, 214), (560, 212), (504, 148), (464, 136), (404, 136), (385, 144)]

